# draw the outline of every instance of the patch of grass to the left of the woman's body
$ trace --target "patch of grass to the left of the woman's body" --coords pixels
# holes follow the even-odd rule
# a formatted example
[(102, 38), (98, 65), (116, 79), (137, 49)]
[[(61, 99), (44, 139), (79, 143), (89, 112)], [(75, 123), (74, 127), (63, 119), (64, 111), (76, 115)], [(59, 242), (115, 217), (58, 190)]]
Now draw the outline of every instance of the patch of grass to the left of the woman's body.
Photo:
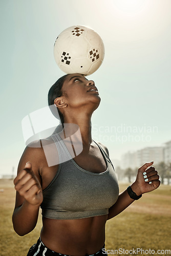
[(29, 248), (37, 242), (41, 229), (41, 215), (36, 228), (24, 237), (19, 237), (13, 230), (12, 213), (15, 204), (15, 189), (12, 180), (0, 180), (0, 255), (26, 256)]

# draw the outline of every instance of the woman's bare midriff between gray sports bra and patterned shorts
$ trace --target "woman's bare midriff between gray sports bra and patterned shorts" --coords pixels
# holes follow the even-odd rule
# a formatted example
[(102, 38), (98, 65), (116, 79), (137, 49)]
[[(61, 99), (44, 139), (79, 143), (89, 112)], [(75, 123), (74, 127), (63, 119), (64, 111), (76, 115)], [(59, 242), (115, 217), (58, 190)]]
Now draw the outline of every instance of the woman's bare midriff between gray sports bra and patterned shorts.
[(76, 220), (42, 219), (41, 241), (49, 249), (70, 255), (93, 254), (105, 241), (105, 223), (108, 216)]

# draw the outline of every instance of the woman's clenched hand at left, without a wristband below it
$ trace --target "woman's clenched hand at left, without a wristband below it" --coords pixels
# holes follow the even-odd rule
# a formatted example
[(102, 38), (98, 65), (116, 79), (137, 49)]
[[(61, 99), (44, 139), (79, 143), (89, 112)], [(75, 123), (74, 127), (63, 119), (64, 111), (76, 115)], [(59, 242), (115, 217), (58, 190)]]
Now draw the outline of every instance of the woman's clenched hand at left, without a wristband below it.
[(29, 204), (40, 205), (43, 196), (41, 185), (35, 176), (32, 165), (27, 162), (14, 179), (15, 189)]

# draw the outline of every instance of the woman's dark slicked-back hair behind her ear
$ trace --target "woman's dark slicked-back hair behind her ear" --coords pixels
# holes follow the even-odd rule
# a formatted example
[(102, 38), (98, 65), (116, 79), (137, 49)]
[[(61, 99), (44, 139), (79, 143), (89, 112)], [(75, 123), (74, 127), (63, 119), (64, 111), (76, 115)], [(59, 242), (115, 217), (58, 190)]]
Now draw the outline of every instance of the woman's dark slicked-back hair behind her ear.
[(60, 122), (61, 123), (64, 123), (64, 117), (62, 115), (62, 113), (60, 112), (59, 109), (58, 110), (58, 114), (57, 114), (57, 111), (56, 110), (56, 107), (54, 108), (54, 100), (57, 98), (57, 97), (60, 97), (62, 96), (62, 86), (63, 86), (63, 82), (66, 80), (68, 74), (67, 75), (64, 75), (62, 77), (60, 77), (54, 84), (53, 86), (50, 88), (49, 90), (49, 93), (48, 93), (48, 104), (49, 104), (49, 107), (50, 107), (50, 110), (52, 112), (52, 114), (56, 117), (56, 118), (60, 118)]

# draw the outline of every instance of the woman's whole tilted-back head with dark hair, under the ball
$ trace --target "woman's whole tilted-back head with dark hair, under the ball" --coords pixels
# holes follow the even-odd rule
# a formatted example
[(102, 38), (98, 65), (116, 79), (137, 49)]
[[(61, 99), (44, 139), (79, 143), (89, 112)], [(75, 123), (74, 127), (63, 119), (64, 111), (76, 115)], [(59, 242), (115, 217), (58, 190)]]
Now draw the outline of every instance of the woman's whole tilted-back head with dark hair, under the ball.
[(83, 113), (91, 115), (98, 107), (100, 97), (93, 80), (75, 73), (62, 76), (53, 84), (49, 90), (48, 103), (53, 115), (60, 117), (63, 123), (64, 119), (71, 121), (71, 118), (80, 114), (82, 116)]

